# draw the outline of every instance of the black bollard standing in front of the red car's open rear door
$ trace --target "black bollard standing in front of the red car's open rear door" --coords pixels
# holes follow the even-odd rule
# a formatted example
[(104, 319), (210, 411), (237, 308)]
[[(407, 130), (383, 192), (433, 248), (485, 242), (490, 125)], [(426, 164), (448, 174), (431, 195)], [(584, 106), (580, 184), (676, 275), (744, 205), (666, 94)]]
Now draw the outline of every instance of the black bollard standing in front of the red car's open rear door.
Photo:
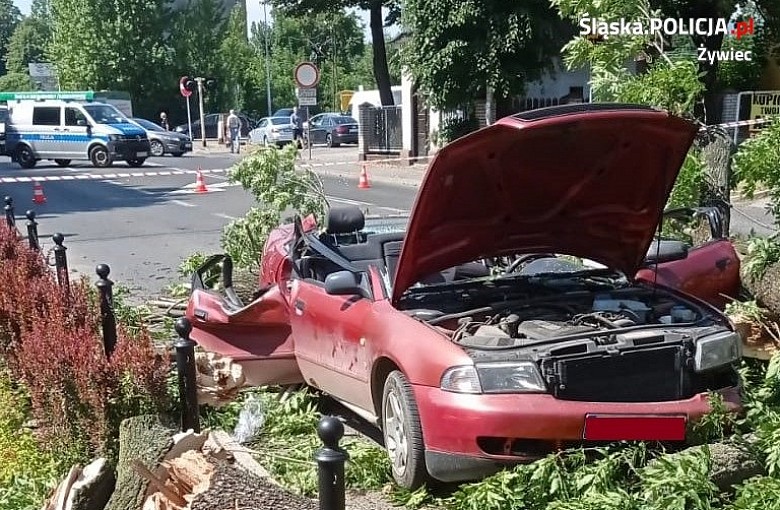
[(176, 372), (179, 376), (179, 398), (181, 399), (181, 431), (192, 429), (200, 432), (198, 410), (198, 388), (195, 382), (195, 342), (190, 338), (192, 324), (186, 317), (176, 320), (174, 329), (179, 339), (176, 348)]

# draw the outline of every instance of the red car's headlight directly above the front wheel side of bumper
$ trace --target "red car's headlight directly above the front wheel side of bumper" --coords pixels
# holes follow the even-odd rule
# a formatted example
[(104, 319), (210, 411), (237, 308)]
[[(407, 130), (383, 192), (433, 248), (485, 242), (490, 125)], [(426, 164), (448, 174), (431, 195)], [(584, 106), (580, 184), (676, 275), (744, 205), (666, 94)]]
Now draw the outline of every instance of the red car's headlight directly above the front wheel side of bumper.
[(535, 363), (496, 362), (452, 367), (441, 388), (456, 393), (544, 393), (547, 386)]

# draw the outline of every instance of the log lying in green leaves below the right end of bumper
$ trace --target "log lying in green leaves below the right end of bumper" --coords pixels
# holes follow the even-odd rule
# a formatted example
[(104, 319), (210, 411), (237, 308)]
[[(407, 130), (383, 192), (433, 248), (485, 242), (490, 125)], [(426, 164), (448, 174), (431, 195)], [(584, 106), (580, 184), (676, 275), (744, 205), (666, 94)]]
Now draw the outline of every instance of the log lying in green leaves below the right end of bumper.
[[(710, 480), (721, 492), (732, 492), (734, 487), (748, 478), (764, 474), (764, 466), (748, 448), (733, 443), (712, 443), (710, 449), (712, 468)], [(673, 460), (686, 453), (700, 452), (703, 446), (692, 446), (676, 453), (667, 454)], [(651, 460), (650, 464), (657, 462)]]

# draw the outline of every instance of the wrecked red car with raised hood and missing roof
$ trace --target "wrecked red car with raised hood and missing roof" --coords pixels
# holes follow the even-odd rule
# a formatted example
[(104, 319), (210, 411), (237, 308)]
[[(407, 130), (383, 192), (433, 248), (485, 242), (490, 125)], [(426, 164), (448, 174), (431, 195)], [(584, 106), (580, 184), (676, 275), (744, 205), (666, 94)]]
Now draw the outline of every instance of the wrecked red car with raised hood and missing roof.
[[(708, 392), (740, 408), (713, 305), (739, 264), (713, 210), (655, 239), (697, 128), (633, 105), (554, 107), (444, 147), (408, 219), (329, 211), (273, 232), (241, 303), (193, 277), (193, 339), (252, 384), (305, 382), (376, 424), (396, 481), (476, 479), (562, 446), (683, 441)], [(408, 221), (407, 221), (408, 220)], [(685, 291), (685, 292), (682, 292)], [(697, 296), (697, 297), (695, 297)]]

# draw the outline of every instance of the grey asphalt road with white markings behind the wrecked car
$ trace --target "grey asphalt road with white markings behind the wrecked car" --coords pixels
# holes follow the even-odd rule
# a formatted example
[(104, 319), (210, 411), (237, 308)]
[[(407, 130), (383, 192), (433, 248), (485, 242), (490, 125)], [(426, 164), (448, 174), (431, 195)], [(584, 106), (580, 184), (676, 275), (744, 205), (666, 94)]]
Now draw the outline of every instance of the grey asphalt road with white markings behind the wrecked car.
[[(354, 148), (314, 152), (320, 162), (356, 161)], [(306, 160), (308, 154), (303, 157)], [(194, 193), (194, 170), (227, 169), (236, 158), (229, 153), (166, 156), (150, 158), (140, 169), (124, 163), (96, 169), (86, 162), (60, 168), (41, 161), (30, 170), (1, 158), (0, 193), (14, 199), (23, 232), (25, 210), (36, 211), (44, 252), (54, 246), (52, 234), (61, 232), (73, 271), (95, 279), (95, 265), (106, 263), (114, 282), (154, 295), (173, 281), (187, 255), (219, 253), (223, 227), (253, 204), (240, 186), (227, 183), (224, 172), (205, 173), (209, 192)], [(9, 177), (22, 182), (7, 182)], [(45, 204), (32, 202), (32, 179), (43, 179)], [(380, 182), (358, 189), (352, 179), (327, 175), (322, 179), (332, 204), (359, 205), (374, 214), (408, 210), (416, 191)]]

